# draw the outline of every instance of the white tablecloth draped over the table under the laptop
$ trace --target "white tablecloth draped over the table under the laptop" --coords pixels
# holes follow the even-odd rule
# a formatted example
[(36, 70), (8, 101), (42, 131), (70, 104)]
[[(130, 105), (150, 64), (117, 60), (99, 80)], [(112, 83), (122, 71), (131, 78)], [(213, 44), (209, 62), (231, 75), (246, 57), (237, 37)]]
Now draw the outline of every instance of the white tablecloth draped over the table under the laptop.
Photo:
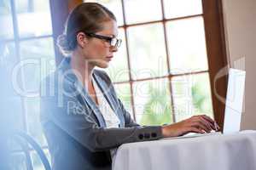
[(256, 170), (256, 131), (123, 144), (113, 170)]

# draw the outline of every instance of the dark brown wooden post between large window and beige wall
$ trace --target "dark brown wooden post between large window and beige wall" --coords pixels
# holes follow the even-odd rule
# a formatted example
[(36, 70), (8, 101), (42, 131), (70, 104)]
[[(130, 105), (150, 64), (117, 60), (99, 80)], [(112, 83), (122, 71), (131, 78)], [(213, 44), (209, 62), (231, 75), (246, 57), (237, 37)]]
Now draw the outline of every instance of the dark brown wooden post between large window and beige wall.
[[(217, 81), (215, 77), (223, 70), (227, 75), (228, 65), (225, 40), (224, 40), (224, 20), (222, 14), (221, 0), (202, 0), (204, 22), (207, 41), (207, 55), (212, 87), (212, 105), (214, 118), (223, 130), (225, 104), (218, 99), (218, 95), (225, 98), (227, 91), (227, 77), (224, 76)], [(218, 95), (216, 94), (218, 93)]]

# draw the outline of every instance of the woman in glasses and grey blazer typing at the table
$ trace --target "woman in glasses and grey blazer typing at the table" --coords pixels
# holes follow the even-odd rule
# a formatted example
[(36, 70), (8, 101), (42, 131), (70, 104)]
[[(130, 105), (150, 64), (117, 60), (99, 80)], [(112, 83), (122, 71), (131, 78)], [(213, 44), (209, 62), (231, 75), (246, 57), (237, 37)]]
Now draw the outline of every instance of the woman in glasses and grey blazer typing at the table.
[(106, 72), (95, 69), (108, 67), (121, 43), (117, 35), (116, 18), (101, 4), (82, 3), (68, 17), (58, 45), (69, 57), (41, 91), (41, 121), (54, 170), (111, 169), (120, 144), (218, 130), (208, 116), (166, 126), (134, 122)]

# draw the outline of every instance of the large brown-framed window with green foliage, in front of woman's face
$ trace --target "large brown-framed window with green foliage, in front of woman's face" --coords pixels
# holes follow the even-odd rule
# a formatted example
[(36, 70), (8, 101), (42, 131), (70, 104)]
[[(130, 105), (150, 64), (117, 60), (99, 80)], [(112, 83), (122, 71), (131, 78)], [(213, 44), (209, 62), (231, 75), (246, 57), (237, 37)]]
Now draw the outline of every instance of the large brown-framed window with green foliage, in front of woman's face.
[(120, 99), (138, 123), (172, 123), (201, 113), (213, 117), (211, 75), (215, 72), (211, 70), (213, 64), (209, 66), (212, 55), (206, 31), (210, 28), (205, 23), (207, 5), (214, 7), (211, 3), (84, 2), (102, 3), (117, 16), (123, 43), (107, 71)]

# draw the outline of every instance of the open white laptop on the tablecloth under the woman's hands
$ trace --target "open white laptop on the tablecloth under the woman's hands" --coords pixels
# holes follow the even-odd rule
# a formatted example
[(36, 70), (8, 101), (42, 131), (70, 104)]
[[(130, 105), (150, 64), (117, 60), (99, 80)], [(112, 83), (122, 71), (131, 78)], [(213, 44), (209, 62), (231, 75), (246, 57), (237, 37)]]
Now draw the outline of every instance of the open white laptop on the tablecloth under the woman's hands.
[[(246, 71), (230, 68), (227, 95), (225, 99), (224, 112), (224, 134), (238, 133), (241, 125), (241, 113), (243, 108), (243, 98), (245, 91)], [(186, 135), (171, 139), (193, 138), (198, 136), (207, 136), (212, 134), (221, 134), (220, 132), (212, 133), (188, 133)], [(170, 139), (170, 138), (167, 138)]]

